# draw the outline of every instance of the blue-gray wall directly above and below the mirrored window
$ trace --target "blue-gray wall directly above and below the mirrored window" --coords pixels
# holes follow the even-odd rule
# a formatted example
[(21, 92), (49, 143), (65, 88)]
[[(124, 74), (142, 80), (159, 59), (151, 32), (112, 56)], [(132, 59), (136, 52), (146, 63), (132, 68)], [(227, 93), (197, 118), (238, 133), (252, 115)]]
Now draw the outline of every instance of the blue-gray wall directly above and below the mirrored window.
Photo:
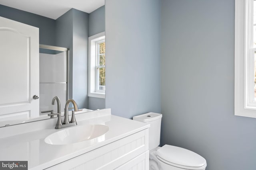
[[(105, 6), (89, 14), (89, 36), (105, 31)], [(88, 97), (88, 109), (104, 109), (105, 99)]]

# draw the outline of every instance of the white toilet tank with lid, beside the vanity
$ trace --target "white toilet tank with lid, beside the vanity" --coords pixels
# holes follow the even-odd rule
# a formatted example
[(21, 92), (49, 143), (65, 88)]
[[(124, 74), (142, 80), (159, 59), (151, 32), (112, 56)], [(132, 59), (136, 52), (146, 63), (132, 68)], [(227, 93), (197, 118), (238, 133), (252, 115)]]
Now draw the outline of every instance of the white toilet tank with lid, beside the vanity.
[(155, 149), (160, 145), (161, 119), (160, 113), (145, 113), (132, 117), (133, 120), (150, 124), (149, 128), (149, 150)]

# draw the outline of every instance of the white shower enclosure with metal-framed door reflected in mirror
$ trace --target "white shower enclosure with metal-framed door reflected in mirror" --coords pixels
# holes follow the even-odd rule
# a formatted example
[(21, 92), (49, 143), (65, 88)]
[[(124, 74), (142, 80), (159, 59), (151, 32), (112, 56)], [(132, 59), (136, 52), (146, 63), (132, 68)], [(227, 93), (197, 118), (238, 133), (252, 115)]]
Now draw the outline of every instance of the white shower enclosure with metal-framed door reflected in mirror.
[(52, 98), (60, 98), (61, 111), (68, 99), (69, 50), (63, 47), (40, 45), (39, 47), (39, 91), (40, 115), (42, 111), (54, 110)]

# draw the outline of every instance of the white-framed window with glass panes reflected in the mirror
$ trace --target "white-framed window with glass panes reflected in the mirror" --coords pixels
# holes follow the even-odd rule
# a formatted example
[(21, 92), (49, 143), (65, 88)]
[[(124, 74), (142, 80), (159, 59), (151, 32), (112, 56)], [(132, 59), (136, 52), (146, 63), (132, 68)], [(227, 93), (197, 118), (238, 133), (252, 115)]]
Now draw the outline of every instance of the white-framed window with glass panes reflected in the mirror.
[(105, 32), (89, 37), (88, 96), (105, 98)]

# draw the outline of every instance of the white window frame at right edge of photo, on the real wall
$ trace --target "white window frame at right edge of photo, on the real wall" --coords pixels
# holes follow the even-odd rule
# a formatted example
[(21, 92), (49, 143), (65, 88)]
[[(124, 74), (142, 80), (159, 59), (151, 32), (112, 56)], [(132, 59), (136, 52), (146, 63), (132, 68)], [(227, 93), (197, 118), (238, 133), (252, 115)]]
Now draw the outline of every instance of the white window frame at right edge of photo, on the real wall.
[(253, 0), (235, 0), (235, 115), (256, 118)]

